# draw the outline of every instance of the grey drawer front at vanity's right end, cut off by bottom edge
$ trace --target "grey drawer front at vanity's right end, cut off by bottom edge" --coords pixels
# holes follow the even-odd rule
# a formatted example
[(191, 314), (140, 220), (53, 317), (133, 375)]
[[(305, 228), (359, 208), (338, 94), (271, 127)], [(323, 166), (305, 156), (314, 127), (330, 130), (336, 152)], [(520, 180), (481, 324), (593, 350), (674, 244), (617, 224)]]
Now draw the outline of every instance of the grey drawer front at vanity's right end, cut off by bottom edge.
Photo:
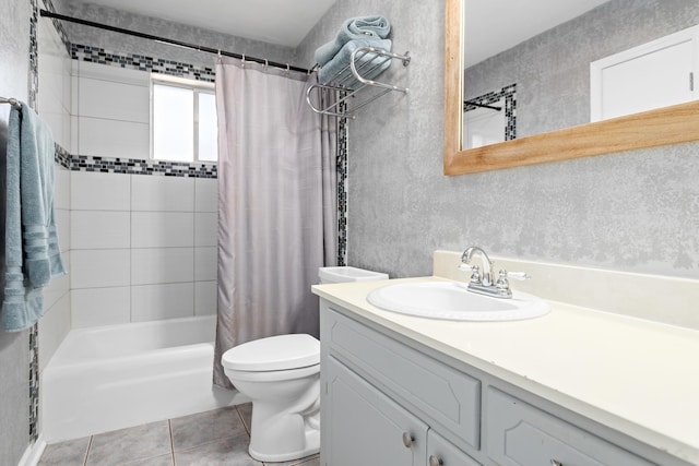
[(485, 410), (487, 454), (499, 465), (652, 465), (493, 387)]

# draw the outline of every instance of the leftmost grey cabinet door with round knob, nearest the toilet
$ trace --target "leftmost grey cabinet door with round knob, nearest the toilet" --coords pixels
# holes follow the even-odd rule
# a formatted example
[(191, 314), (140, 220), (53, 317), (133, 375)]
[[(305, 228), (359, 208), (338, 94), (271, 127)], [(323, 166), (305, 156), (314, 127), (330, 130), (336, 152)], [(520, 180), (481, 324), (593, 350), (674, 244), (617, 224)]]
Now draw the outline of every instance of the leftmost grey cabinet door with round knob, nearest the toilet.
[[(423, 465), (427, 425), (329, 357), (321, 422), (327, 466)], [(411, 440), (412, 439), (412, 440)]]

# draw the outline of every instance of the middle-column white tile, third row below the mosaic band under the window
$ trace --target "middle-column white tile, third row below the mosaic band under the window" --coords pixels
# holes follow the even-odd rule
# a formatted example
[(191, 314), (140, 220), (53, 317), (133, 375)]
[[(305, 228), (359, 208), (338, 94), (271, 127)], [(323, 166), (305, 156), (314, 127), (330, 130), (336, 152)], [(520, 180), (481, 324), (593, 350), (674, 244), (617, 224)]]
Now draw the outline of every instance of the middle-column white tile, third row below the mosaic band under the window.
[(131, 285), (193, 282), (193, 248), (131, 249)]

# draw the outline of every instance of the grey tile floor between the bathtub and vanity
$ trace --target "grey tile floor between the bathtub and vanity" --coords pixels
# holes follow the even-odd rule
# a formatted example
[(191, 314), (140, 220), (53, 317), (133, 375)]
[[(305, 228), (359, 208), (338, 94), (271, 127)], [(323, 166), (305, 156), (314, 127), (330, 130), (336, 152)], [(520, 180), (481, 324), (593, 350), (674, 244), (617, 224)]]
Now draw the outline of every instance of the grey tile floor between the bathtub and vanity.
[(319, 466), (318, 455), (260, 463), (248, 455), (251, 404), (47, 445), (38, 466)]

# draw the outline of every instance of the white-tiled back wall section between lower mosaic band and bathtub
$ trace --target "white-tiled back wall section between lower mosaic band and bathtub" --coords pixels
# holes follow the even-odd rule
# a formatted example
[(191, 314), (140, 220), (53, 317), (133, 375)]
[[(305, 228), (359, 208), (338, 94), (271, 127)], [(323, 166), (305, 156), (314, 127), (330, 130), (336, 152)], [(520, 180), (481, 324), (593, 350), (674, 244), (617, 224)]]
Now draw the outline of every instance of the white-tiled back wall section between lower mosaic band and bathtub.
[(71, 172), (74, 328), (216, 310), (214, 179)]

